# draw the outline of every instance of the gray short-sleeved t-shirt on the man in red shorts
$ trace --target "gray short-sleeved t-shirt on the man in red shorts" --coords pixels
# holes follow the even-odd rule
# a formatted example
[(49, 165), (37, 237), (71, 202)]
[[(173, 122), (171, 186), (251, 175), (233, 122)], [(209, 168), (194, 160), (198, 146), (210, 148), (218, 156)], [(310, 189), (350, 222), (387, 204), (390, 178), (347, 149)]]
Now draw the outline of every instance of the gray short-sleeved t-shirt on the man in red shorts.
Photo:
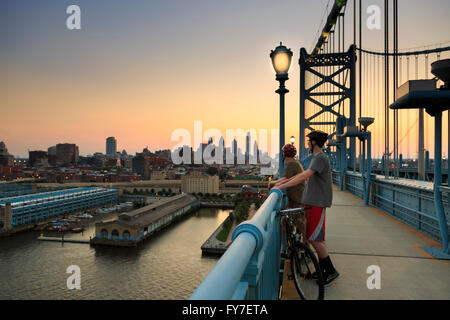
[(309, 169), (316, 171), (306, 183), (303, 203), (306, 205), (329, 208), (333, 201), (331, 168), (328, 156), (321, 152), (311, 160)]

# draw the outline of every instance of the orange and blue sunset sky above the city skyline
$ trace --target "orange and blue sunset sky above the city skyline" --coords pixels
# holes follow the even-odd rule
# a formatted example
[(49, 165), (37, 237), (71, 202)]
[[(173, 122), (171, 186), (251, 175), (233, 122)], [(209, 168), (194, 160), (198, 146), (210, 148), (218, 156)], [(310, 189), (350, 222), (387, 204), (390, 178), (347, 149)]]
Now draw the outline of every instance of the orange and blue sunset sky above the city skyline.
[[(310, 52), (327, 2), (2, 0), (0, 141), (16, 157), (64, 142), (87, 155), (104, 153), (114, 136), (119, 151), (134, 154), (172, 148), (171, 133), (193, 134), (195, 120), (224, 136), (278, 128), (269, 53), (280, 41), (294, 52), (286, 141), (298, 137), (299, 50)], [(81, 8), (81, 30), (66, 28), (70, 4)], [(400, 48), (450, 41), (450, 1), (400, 0), (399, 10)], [(383, 48), (383, 30), (363, 32), (365, 47)]]

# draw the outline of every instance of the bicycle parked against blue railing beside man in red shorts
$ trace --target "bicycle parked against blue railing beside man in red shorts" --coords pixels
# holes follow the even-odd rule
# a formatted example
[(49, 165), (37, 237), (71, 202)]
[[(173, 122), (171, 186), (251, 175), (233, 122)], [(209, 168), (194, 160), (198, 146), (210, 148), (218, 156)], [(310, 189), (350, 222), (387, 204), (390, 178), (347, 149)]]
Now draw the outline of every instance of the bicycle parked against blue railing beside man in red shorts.
[(291, 261), (291, 272), (297, 292), (303, 300), (323, 300), (324, 284), (319, 262), (309, 245), (304, 242), (301, 233), (294, 227), (293, 214), (309, 209), (293, 208), (278, 211), (278, 215), (286, 217), (286, 259)]

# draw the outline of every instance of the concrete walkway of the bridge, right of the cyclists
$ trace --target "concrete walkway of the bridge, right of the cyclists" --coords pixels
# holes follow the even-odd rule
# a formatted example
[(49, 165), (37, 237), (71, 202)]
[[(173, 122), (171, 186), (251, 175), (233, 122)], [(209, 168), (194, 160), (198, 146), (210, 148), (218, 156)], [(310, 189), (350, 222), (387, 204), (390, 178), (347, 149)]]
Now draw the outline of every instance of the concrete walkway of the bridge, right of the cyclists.
[[(333, 190), (326, 213), (326, 243), (340, 277), (325, 288), (326, 300), (450, 299), (450, 261), (437, 260), (420, 247), (441, 245), (362, 201)], [(381, 289), (368, 289), (371, 265), (380, 267)], [(283, 300), (299, 299), (287, 264)]]

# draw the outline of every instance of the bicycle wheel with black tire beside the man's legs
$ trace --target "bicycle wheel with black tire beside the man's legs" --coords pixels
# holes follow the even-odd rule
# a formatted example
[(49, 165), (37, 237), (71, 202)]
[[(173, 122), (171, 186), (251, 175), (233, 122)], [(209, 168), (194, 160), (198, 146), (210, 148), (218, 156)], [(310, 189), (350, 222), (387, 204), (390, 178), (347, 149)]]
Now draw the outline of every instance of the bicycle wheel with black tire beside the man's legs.
[[(324, 286), (319, 262), (304, 243), (296, 243), (291, 258), (291, 270), (295, 287), (303, 300), (323, 300)], [(317, 279), (313, 274), (317, 275)]]

